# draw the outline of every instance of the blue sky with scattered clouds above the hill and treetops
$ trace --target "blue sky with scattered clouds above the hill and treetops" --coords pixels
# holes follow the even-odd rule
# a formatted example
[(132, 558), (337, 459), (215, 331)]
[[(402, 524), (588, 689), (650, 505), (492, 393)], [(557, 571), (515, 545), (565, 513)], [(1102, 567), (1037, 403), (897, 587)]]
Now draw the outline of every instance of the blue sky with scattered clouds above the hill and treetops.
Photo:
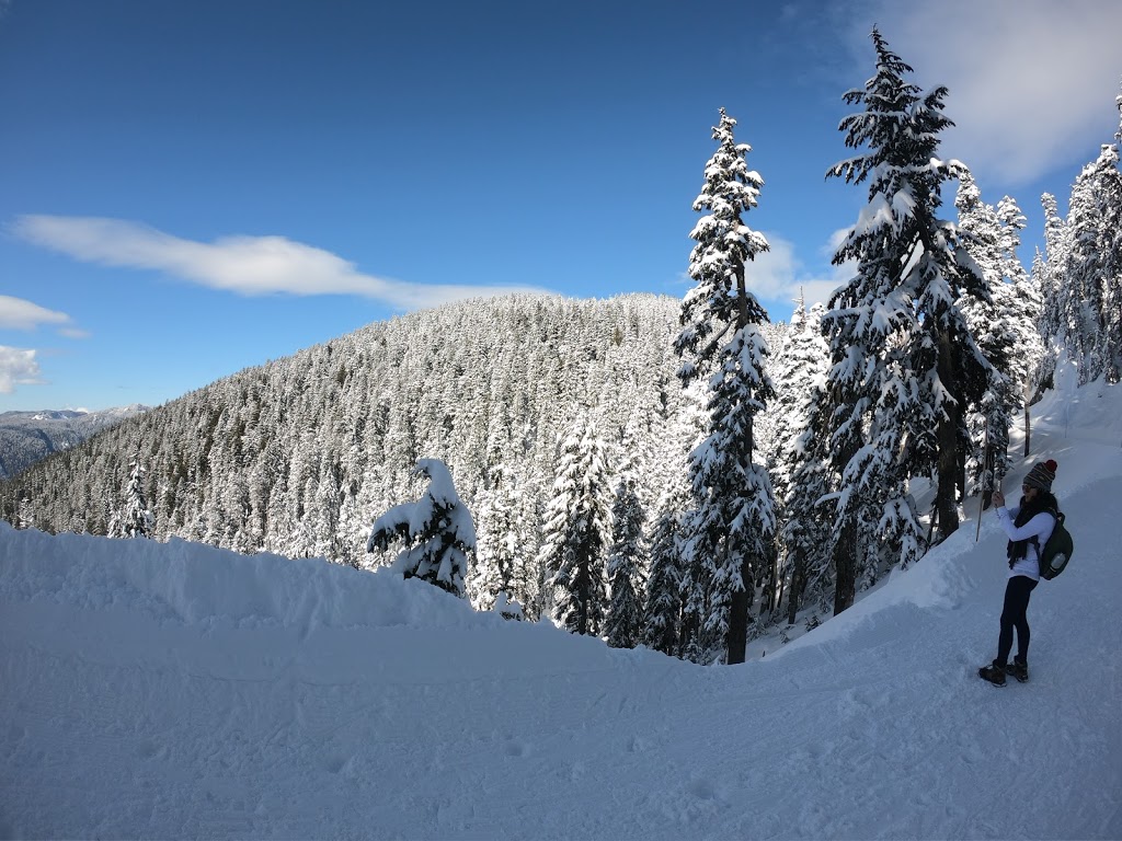
[(1115, 0), (0, 0), (0, 412), (158, 405), (496, 290), (681, 296), (721, 107), (787, 320), (864, 204), (824, 176), (874, 22), (1030, 260), (1118, 129)]

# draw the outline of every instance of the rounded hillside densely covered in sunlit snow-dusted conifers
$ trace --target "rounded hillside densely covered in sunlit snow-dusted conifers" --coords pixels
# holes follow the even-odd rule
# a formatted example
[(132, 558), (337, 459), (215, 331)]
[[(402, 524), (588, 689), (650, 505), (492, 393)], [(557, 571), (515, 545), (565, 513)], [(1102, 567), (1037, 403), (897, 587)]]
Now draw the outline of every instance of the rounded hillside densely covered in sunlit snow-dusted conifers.
[[(47, 459), (0, 490), (4, 516), (105, 534), (136, 461), (157, 539), (374, 566), (386, 558), (366, 554), (371, 520), (423, 490), (417, 459), (441, 459), (480, 557), (507, 547), (513, 595), (533, 608), (559, 446), (578, 419), (607, 453), (609, 503), (625, 471), (650, 517), (684, 481), (697, 432), (675, 378), (679, 304), (514, 296), (371, 324)], [(769, 333), (781, 343), (782, 325)]]

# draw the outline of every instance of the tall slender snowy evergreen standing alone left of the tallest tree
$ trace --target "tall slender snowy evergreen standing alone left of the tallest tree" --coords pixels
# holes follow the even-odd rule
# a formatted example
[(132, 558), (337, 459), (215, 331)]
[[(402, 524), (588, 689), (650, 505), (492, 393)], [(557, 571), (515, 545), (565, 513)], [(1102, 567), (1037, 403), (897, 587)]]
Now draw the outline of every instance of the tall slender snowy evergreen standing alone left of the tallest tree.
[(774, 390), (758, 329), (767, 313), (748, 290), (747, 264), (767, 241), (741, 219), (756, 206), (763, 179), (748, 169), (751, 147), (735, 141), (735, 127), (721, 109), (712, 129), (718, 148), (693, 202), (705, 213), (690, 232), (697, 244), (689, 275), (697, 285), (682, 302), (674, 343), (683, 383), (708, 385), (707, 437), (690, 454), (688, 553), (698, 588), (692, 606), (700, 611), (695, 656), (727, 663), (744, 662), (754, 582), (775, 533), (771, 480), (752, 460), (753, 423)]

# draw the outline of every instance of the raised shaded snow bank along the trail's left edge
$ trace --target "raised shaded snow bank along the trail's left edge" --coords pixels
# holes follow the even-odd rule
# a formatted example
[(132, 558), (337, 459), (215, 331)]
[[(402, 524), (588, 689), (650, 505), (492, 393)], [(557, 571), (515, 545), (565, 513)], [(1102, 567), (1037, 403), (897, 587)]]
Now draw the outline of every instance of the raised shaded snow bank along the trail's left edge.
[(387, 570), (365, 573), (322, 558), (239, 555), (178, 538), (114, 540), (0, 523), (0, 595), (82, 610), (117, 608), (160, 622), (316, 627), (497, 623), (463, 600)]

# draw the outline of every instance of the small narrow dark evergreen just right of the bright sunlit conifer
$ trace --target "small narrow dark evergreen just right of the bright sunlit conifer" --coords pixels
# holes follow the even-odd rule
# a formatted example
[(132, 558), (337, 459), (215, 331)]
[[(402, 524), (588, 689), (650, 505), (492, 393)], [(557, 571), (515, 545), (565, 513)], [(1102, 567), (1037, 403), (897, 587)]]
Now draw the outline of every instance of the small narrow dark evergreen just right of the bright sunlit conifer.
[(636, 479), (624, 470), (611, 507), (611, 551), (608, 554), (608, 602), (605, 637), (614, 648), (634, 648), (643, 630), (643, 572), (647, 552), (643, 539), (646, 515), (635, 490)]

